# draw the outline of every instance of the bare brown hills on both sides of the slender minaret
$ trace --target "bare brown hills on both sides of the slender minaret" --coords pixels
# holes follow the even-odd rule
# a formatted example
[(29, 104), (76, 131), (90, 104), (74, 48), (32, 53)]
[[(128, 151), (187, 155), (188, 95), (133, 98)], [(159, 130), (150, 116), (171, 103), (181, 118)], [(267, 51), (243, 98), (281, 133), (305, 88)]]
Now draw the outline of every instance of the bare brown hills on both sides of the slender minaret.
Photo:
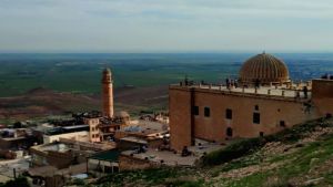
[[(0, 97), (0, 123), (100, 110), (100, 95), (37, 87), (19, 96)], [(168, 86), (118, 87), (114, 91), (114, 102), (117, 111), (125, 110), (132, 114), (147, 110), (165, 110)]]

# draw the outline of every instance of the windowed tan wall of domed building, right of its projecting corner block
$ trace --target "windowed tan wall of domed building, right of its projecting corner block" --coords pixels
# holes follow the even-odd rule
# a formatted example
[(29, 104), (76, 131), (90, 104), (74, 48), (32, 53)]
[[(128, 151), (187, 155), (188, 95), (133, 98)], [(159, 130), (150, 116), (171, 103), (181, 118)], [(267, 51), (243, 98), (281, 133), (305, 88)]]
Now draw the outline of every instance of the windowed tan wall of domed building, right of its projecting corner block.
[[(195, 137), (215, 142), (225, 139), (228, 127), (233, 129), (233, 137), (256, 137), (260, 132), (266, 135), (283, 129), (281, 121), (292, 126), (316, 116), (315, 111), (305, 113), (302, 102), (209, 92), (196, 92), (194, 105), (199, 106), (199, 115), (194, 117)], [(204, 107), (210, 107), (210, 117), (203, 115)], [(232, 110), (232, 120), (225, 118), (226, 108)], [(253, 113), (260, 114), (260, 124), (253, 123)]]

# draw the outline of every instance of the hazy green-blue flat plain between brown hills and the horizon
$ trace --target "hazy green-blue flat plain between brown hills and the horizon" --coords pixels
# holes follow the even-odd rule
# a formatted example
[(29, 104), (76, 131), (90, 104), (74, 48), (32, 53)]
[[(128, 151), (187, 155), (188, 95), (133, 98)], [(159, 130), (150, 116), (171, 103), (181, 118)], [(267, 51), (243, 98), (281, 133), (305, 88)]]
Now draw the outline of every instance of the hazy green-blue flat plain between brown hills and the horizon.
[[(34, 87), (72, 93), (99, 93), (101, 72), (112, 69), (115, 86), (154, 86), (195, 81), (224, 82), (238, 77), (250, 53), (184, 54), (0, 54), (0, 96)], [(276, 54), (294, 80), (319, 77), (333, 69), (333, 54)]]

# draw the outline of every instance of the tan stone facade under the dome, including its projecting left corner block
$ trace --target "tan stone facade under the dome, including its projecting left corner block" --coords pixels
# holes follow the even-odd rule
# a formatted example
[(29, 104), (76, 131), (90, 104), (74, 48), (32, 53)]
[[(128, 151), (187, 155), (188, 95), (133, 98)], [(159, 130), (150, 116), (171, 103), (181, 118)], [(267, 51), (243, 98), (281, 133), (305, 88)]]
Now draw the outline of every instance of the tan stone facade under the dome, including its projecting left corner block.
[[(226, 128), (233, 137), (256, 137), (283, 129), (285, 126), (316, 118), (315, 107), (306, 112), (304, 101), (283, 97), (229, 94), (212, 90), (195, 90), (194, 105), (199, 115), (193, 120), (193, 134), (196, 138), (223, 142)], [(259, 110), (255, 111), (255, 105)], [(171, 147), (181, 150), (191, 144), (191, 94), (188, 87), (170, 87), (170, 133)], [(204, 107), (210, 107), (210, 117), (204, 116)], [(232, 110), (232, 120), (225, 118), (225, 110)], [(253, 123), (253, 113), (260, 113), (260, 124)]]

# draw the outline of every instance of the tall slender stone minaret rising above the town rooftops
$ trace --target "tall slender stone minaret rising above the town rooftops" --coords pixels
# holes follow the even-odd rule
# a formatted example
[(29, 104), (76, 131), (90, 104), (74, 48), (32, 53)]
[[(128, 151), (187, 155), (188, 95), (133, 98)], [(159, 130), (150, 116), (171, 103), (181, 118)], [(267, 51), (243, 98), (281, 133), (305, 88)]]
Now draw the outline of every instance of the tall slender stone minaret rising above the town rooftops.
[(103, 116), (113, 117), (113, 81), (111, 70), (105, 69), (102, 77)]

